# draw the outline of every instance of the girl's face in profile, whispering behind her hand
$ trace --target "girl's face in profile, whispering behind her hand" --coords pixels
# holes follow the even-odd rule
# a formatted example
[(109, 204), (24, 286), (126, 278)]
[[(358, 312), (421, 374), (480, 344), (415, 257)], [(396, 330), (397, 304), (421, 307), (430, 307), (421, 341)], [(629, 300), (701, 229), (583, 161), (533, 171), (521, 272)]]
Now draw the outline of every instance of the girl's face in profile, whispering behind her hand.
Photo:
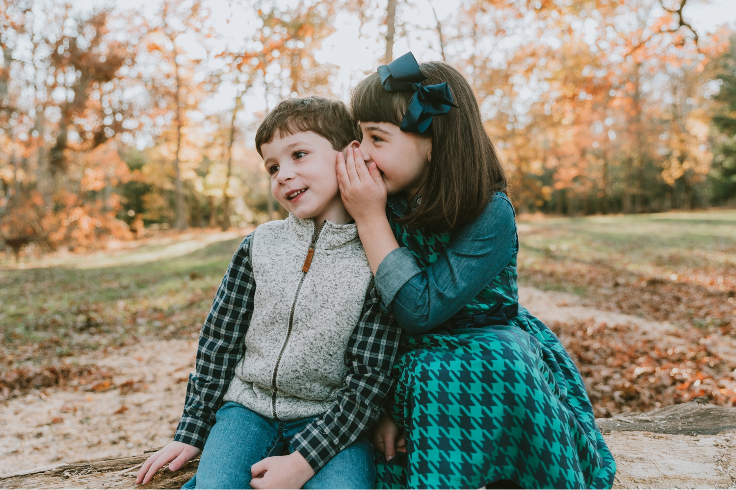
[(353, 141), (360, 148), (366, 165), (375, 162), (381, 170), (389, 194), (406, 191), (417, 193), (432, 154), (432, 139), (401, 131), (392, 123), (360, 123), (363, 142)]

